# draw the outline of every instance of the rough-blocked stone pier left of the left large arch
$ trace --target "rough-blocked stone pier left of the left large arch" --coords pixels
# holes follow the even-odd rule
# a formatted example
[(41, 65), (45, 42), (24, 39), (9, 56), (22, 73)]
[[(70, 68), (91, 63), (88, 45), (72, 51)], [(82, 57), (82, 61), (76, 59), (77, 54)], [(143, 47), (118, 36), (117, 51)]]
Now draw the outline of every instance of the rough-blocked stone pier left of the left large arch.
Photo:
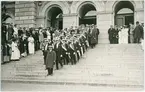
[(20, 27), (36, 26), (36, 6), (34, 1), (16, 1), (15, 23)]

